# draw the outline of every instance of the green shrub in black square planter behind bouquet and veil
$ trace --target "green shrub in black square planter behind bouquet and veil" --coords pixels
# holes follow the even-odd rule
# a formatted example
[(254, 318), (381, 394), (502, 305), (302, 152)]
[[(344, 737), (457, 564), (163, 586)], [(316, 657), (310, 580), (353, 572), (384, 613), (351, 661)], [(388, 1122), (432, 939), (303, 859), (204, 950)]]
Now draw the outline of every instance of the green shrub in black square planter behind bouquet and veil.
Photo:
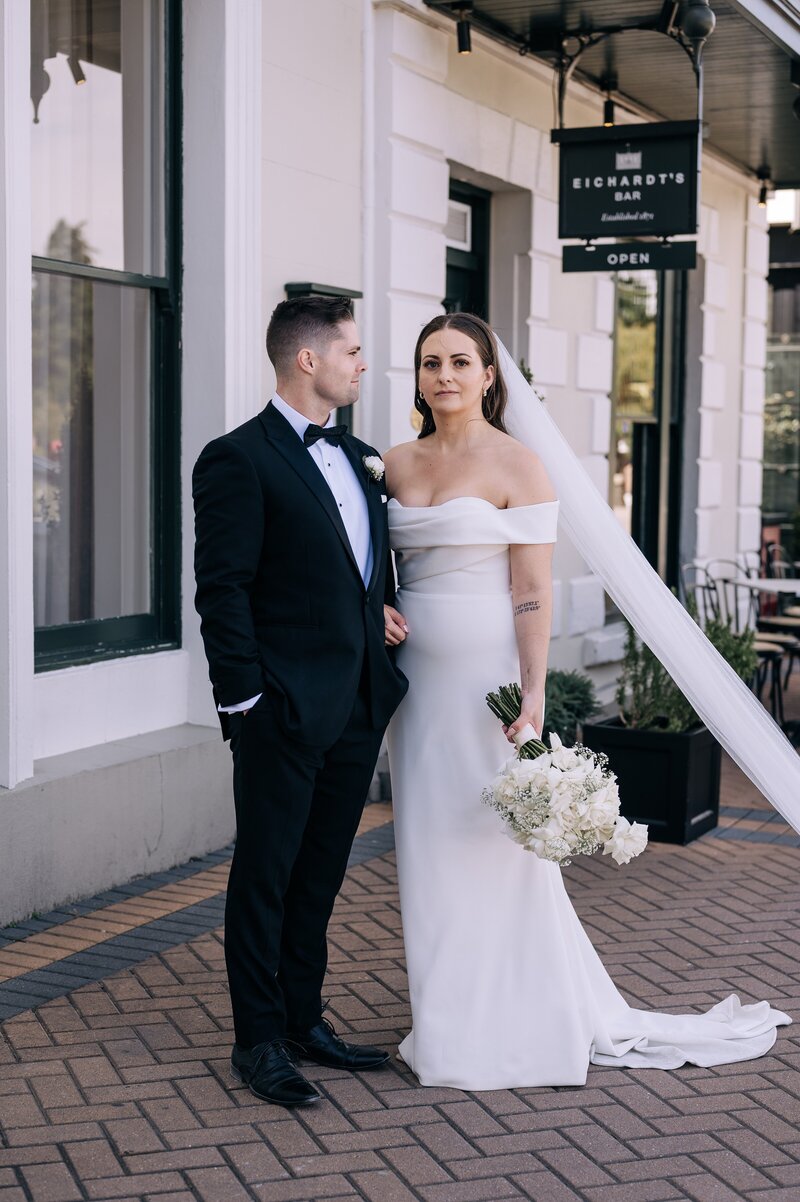
[[(705, 633), (738, 676), (753, 678), (754, 631), (738, 633), (712, 619)], [(661, 843), (687, 844), (711, 831), (720, 816), (720, 744), (629, 626), (616, 702), (619, 716), (585, 724), (583, 740), (608, 756), (625, 816), (646, 822)]]

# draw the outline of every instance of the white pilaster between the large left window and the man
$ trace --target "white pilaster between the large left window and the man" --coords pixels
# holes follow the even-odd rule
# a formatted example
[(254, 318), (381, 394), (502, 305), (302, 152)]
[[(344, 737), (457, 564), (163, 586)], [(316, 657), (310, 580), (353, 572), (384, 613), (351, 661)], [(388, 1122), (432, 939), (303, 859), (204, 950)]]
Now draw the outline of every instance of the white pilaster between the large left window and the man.
[(262, 404), (262, 0), (184, 0), (183, 643), (189, 720), (214, 721), (192, 599), (191, 471)]

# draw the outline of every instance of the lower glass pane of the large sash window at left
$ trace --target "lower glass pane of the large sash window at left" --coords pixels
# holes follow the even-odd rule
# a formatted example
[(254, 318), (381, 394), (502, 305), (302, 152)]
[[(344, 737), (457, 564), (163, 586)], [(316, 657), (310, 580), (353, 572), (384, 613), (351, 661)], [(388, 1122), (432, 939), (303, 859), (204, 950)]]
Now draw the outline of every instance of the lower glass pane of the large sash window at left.
[(36, 626), (148, 613), (150, 293), (34, 274)]

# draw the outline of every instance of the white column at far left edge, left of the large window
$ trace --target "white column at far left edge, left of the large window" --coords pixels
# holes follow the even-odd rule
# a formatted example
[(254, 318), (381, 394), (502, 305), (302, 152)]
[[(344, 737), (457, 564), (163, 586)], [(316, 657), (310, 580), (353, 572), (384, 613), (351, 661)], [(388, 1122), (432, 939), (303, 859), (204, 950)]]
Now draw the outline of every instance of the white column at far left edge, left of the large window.
[(30, 12), (0, 0), (0, 787), (34, 770)]

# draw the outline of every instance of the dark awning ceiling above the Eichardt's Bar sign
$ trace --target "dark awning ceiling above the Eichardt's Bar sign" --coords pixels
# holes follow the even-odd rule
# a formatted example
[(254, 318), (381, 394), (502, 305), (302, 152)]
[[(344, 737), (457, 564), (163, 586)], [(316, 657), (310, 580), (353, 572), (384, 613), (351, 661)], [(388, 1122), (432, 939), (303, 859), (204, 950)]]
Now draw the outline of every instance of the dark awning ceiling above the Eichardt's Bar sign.
[[(425, 0), (450, 12), (447, 0)], [(474, 30), (521, 48), (547, 31), (599, 31), (610, 26), (657, 23), (661, 0), (474, 0)], [(677, 24), (686, 5), (681, 4)], [(769, 167), (775, 186), (800, 186), (800, 121), (793, 103), (800, 88), (800, 10), (789, 0), (712, 0), (717, 25), (704, 54), (706, 144), (746, 171)], [(554, 50), (532, 50), (555, 65)], [(694, 117), (697, 93), (686, 52), (671, 37), (626, 30), (587, 49), (575, 78), (597, 88), (609, 71), (616, 95), (629, 99), (655, 119)], [(796, 76), (800, 83), (800, 75)], [(567, 124), (569, 91), (567, 91)]]

